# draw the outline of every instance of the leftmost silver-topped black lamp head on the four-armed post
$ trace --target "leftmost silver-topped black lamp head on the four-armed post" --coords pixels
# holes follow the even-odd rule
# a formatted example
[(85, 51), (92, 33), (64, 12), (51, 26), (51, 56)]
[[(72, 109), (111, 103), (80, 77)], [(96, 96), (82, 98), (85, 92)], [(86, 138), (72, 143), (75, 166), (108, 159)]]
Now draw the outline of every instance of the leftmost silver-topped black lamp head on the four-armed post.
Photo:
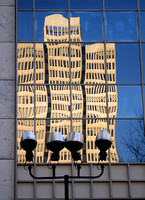
[(26, 151), (26, 161), (33, 161), (32, 151), (36, 148), (37, 141), (32, 131), (23, 133), (20, 145)]

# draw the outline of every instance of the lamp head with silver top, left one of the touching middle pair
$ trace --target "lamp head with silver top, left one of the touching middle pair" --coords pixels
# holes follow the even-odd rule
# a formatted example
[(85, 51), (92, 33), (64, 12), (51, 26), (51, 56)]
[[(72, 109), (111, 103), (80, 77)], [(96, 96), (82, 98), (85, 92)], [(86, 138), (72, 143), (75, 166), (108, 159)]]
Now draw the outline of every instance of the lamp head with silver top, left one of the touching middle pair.
[(52, 161), (59, 160), (59, 151), (64, 148), (64, 138), (60, 132), (50, 132), (46, 136), (46, 146), (47, 149), (52, 151), (51, 155)]

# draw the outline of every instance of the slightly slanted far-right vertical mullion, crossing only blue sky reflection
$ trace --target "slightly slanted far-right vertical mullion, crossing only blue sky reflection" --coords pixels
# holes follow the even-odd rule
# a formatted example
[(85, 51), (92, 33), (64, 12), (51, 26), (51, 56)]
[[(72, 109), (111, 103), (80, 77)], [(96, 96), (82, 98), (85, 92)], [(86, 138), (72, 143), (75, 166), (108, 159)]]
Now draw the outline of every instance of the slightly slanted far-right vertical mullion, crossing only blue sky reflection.
[(138, 12), (138, 33), (139, 33), (139, 55), (140, 55), (140, 74), (141, 74), (142, 106), (143, 106), (144, 136), (145, 136), (145, 102), (144, 102), (144, 82), (143, 82), (143, 64), (142, 64), (142, 48), (141, 48), (139, 0), (137, 0), (137, 12)]

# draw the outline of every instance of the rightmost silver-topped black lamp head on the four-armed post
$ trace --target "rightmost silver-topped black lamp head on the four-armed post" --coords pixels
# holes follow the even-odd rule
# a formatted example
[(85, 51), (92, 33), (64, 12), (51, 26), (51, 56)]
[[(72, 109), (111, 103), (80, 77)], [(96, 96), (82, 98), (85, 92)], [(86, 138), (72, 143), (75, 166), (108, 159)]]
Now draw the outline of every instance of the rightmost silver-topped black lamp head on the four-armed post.
[(110, 134), (107, 132), (107, 130), (101, 130), (98, 133), (95, 144), (100, 150), (100, 160), (106, 160), (106, 151), (111, 147), (112, 144)]

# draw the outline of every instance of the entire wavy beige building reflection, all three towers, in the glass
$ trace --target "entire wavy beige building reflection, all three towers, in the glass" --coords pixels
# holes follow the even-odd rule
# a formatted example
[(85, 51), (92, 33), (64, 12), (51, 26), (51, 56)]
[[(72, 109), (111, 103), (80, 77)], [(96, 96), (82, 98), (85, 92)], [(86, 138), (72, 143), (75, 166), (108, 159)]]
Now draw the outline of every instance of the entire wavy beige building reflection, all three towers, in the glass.
[[(17, 88), (17, 117), (22, 118), (17, 126), (18, 163), (25, 162), (24, 151), (20, 147), (21, 136), (26, 130), (34, 131), (34, 120), (29, 118), (36, 118), (37, 163), (49, 162), (51, 152), (45, 148), (45, 137), (53, 131), (61, 132), (64, 138), (70, 131), (83, 133), (86, 138), (85, 151), (81, 150), (83, 161), (99, 161), (99, 151), (94, 141), (100, 130), (107, 129), (107, 120), (97, 118), (107, 118), (106, 79), (108, 83), (116, 83), (115, 44), (106, 45), (106, 75), (104, 44), (83, 47), (81, 43), (75, 43), (82, 41), (79, 17), (70, 18), (70, 37), (68, 27), (68, 19), (62, 15), (47, 16), (44, 44), (36, 43), (35, 48), (33, 43), (18, 44), (17, 80), (21, 85)], [(73, 42), (70, 46), (69, 38)], [(84, 86), (80, 85), (82, 82)], [(51, 85), (46, 87), (45, 83)], [(108, 113), (113, 118), (117, 114), (117, 88), (114, 85), (108, 87)], [(84, 120), (85, 123), (82, 120), (84, 115), (89, 118)], [(46, 121), (46, 117), (52, 119)], [(111, 162), (118, 162), (115, 122), (112, 122)], [(71, 162), (70, 152), (66, 148), (60, 152), (60, 163), (64, 162)]]

